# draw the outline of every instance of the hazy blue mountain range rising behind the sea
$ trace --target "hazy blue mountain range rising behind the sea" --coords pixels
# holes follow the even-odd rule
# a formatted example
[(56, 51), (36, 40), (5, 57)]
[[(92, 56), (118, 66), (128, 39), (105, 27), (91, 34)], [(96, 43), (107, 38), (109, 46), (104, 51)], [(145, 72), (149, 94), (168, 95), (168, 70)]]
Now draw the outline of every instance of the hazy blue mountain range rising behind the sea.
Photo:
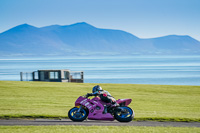
[(0, 56), (144, 54), (199, 55), (200, 42), (187, 35), (141, 39), (85, 22), (41, 28), (22, 24), (0, 33)]

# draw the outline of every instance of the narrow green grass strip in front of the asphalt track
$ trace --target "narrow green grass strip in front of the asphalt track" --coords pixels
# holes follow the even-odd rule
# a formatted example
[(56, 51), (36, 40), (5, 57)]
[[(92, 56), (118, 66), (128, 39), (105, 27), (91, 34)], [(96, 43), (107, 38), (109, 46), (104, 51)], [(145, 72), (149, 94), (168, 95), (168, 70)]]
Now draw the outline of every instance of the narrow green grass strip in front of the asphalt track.
[(196, 127), (0, 126), (1, 133), (199, 133)]

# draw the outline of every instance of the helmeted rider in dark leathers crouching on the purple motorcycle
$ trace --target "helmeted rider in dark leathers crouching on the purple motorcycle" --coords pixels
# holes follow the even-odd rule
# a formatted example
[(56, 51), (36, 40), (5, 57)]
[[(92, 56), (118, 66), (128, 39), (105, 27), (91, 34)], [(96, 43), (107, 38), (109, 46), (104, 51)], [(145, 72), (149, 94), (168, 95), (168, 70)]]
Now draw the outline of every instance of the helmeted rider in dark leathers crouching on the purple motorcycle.
[(87, 93), (87, 97), (89, 96), (99, 96), (102, 101), (106, 103), (111, 103), (113, 106), (119, 106), (115, 98), (111, 96), (111, 94), (108, 91), (103, 90), (99, 85), (93, 87), (92, 93)]

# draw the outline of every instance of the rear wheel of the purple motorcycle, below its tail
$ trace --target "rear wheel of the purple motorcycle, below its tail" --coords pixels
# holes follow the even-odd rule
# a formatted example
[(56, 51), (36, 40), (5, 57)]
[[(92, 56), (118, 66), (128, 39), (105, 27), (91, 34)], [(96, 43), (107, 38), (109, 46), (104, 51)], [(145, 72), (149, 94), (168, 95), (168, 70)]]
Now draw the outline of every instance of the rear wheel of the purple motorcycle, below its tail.
[(114, 112), (114, 117), (116, 120), (119, 122), (130, 122), (133, 120), (135, 113), (131, 108), (126, 106), (118, 108), (119, 109)]

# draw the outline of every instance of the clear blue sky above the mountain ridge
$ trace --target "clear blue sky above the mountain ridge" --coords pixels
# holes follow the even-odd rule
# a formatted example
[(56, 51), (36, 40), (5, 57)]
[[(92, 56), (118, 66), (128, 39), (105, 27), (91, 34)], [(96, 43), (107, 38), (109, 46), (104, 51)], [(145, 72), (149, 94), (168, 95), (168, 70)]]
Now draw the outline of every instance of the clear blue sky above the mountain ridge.
[(86, 22), (139, 38), (189, 35), (200, 41), (200, 0), (0, 0), (0, 33)]

